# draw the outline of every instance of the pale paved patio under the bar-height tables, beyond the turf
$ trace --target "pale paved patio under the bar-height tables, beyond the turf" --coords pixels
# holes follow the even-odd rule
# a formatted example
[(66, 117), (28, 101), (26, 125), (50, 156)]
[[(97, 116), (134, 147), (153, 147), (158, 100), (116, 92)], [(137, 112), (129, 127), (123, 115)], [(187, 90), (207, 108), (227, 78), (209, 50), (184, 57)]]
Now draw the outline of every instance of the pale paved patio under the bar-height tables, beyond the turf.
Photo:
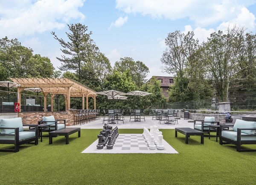
[[(130, 117), (125, 117), (124, 124), (122, 121), (119, 121), (119, 124), (110, 124), (113, 126), (118, 126), (118, 128), (149, 128), (151, 125), (157, 125), (159, 129), (174, 129), (176, 127), (188, 127), (188, 128), (193, 128), (194, 123), (193, 122), (188, 122), (189, 120), (184, 120), (183, 118), (180, 118), (178, 120), (178, 124), (172, 125), (172, 124), (164, 124), (163, 122), (160, 124), (158, 120), (152, 120), (151, 117), (145, 117), (145, 121), (141, 120), (141, 122), (134, 122), (134, 120), (129, 121)], [(72, 125), (68, 127), (80, 127), (84, 129), (90, 129), (90, 128), (103, 128), (103, 117), (99, 120), (95, 120), (92, 122), (88, 122), (84, 125)], [(107, 122), (105, 122), (107, 123)]]

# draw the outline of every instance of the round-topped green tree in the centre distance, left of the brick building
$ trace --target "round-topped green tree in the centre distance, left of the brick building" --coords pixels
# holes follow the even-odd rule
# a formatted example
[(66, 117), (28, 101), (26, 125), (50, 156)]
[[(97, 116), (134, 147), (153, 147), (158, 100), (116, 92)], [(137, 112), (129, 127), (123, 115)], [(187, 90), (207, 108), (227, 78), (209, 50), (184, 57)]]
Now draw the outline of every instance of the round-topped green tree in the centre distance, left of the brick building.
[(121, 73), (129, 71), (131, 78), (137, 85), (141, 87), (146, 81), (146, 77), (149, 73), (148, 67), (141, 61), (134, 61), (131, 57), (120, 58), (114, 65), (114, 70)]

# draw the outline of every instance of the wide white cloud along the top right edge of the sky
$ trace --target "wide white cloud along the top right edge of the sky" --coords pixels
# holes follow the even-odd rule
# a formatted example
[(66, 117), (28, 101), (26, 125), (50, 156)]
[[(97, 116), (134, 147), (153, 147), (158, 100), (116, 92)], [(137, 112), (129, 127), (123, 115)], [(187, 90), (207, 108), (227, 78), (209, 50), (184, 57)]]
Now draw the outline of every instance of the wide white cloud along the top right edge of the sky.
[(189, 17), (196, 26), (209, 26), (235, 19), (241, 9), (253, 3), (252, 0), (116, 0), (116, 8), (127, 14), (140, 13), (153, 18)]

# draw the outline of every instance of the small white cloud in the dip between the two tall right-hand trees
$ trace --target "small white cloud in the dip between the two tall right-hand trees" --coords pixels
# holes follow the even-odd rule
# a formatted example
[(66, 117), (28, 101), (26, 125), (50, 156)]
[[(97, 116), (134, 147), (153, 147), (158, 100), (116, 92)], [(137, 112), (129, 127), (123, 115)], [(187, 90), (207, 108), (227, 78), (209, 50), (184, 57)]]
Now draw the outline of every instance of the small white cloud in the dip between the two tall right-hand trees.
[(192, 26), (186, 25), (185, 30), (183, 31), (184, 34), (187, 34), (187, 32), (193, 31), (195, 34), (195, 39), (198, 39), (200, 43), (203, 41), (207, 41), (207, 38), (210, 37), (211, 33), (215, 32), (213, 28), (205, 29), (201, 27), (197, 27), (194, 30), (192, 29)]

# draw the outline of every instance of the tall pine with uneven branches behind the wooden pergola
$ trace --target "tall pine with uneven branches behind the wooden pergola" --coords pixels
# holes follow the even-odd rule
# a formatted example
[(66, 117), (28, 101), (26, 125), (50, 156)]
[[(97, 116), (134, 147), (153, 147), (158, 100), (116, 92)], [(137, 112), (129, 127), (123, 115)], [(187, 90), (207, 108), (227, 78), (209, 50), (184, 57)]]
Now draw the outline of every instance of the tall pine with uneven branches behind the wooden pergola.
[(66, 42), (61, 38), (58, 38), (54, 31), (52, 31), (53, 37), (58, 40), (63, 49), (61, 49), (64, 55), (61, 58), (56, 57), (61, 61), (61, 70), (75, 70), (78, 74), (78, 80), (81, 80), (81, 68), (84, 63), (92, 60), (95, 53), (99, 48), (95, 45), (90, 38), (92, 32), (87, 33), (87, 26), (80, 23), (67, 25), (70, 33), (67, 33), (67, 37), (70, 41)]

